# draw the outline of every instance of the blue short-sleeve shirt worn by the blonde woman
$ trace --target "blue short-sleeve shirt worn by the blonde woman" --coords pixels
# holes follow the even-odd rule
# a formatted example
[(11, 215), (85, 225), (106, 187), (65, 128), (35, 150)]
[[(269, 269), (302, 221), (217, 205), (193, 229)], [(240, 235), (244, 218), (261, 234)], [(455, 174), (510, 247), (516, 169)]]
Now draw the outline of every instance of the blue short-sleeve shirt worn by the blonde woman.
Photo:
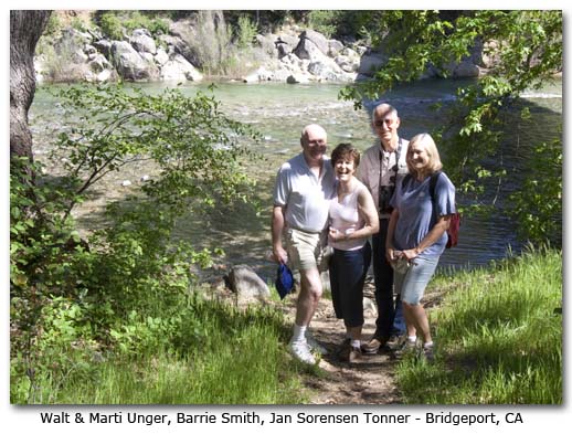
[[(419, 181), (409, 177), (403, 182), (398, 182), (395, 192), (391, 199), (391, 205), (399, 211), (398, 224), (393, 233), (393, 246), (404, 251), (415, 248), (433, 229), (439, 216), (457, 212), (455, 207), (455, 186), (448, 177), (441, 172), (435, 184), (435, 203), (430, 192), (431, 177)], [(434, 212), (433, 205), (436, 210)], [(438, 256), (445, 250), (447, 234), (425, 248), (420, 256)]]

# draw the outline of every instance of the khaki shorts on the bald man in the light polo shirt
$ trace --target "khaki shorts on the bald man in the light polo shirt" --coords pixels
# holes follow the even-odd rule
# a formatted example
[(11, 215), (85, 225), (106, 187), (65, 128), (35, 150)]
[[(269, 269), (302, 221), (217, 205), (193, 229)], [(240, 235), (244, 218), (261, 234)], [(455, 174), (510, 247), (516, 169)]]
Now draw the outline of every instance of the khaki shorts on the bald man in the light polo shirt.
[(288, 266), (295, 269), (327, 268), (325, 261), (326, 232), (308, 233), (297, 229), (286, 229)]

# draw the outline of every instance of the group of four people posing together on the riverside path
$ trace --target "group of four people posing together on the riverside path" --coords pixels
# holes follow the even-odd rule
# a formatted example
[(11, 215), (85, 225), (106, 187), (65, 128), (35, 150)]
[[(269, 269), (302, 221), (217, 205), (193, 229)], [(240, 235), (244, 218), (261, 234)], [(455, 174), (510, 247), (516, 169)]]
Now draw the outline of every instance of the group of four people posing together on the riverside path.
[[(378, 105), (372, 127), (379, 144), (362, 156), (351, 144), (340, 144), (328, 158), (326, 130), (306, 126), (301, 152), (285, 162), (276, 178), (273, 255), (300, 275), (288, 346), (306, 363), (316, 362), (316, 351), (327, 351), (313, 337), (309, 324), (322, 294), (320, 273), (328, 268), (333, 309), (346, 327), (342, 360), (414, 349), (417, 336), (422, 353), (433, 358), (421, 299), (445, 250), (446, 230), (456, 212), (455, 188), (441, 172), (437, 147), (428, 134), (411, 141), (399, 136), (394, 107)], [(362, 341), (363, 285), (372, 261), (378, 318), (373, 336)]]

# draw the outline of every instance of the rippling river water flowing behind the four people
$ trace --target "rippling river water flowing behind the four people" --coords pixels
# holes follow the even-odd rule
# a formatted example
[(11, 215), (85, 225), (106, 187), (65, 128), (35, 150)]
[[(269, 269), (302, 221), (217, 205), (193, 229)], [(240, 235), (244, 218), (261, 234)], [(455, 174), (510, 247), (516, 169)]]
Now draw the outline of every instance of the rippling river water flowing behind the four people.
[[(455, 98), (455, 88), (458, 85), (459, 82), (454, 81), (425, 81), (385, 95), (384, 99), (399, 109), (402, 119), (400, 135), (410, 138), (417, 133), (431, 130), (438, 119), (430, 106)], [(167, 85), (155, 83), (137, 86), (149, 93), (158, 93)], [(179, 87), (184, 94), (194, 95), (197, 91), (205, 92), (206, 84), (189, 83)], [(367, 110), (354, 110), (352, 103), (338, 100), (340, 88), (341, 85), (336, 84), (218, 84), (214, 93), (222, 102), (222, 109), (236, 120), (253, 125), (264, 137), (262, 144), (254, 149), (264, 156), (264, 161), (248, 167), (248, 171), (259, 181), (259, 199), (266, 205), (267, 213), (256, 216), (244, 209), (212, 220), (190, 216), (181, 222), (178, 236), (191, 240), (198, 247), (222, 247), (226, 251), (226, 257), (220, 260), (222, 263), (245, 263), (253, 266), (264, 278), (271, 278), (274, 267), (264, 260), (264, 253), (271, 246), (272, 184), (279, 165), (300, 150), (301, 128), (309, 123), (322, 125), (328, 131), (330, 149), (341, 141), (351, 141), (364, 150), (374, 142)], [(504, 144), (507, 149), (520, 146), (519, 144), (548, 140), (559, 134), (558, 125), (561, 124), (562, 117), (561, 81), (547, 85), (542, 91), (530, 92), (526, 96), (532, 116), (538, 120), (531, 129), (519, 131), (518, 144)], [(53, 103), (53, 97), (46, 93), (46, 88), (40, 87), (30, 115), (36, 144), (38, 136), (42, 137), (47, 129), (54, 128), (54, 125), (57, 129), (62, 121), (54, 119)], [(513, 136), (517, 140), (516, 134)], [(39, 154), (43, 154), (41, 147), (36, 149)], [(518, 171), (527, 155), (508, 151), (506, 158), (508, 160), (504, 163), (515, 167)], [(446, 169), (445, 167), (444, 170)], [(123, 178), (140, 174), (137, 168), (131, 170), (123, 173)], [(114, 180), (112, 186), (115, 190), (118, 190), (118, 183), (119, 179)], [(458, 198), (458, 201), (463, 202), (463, 198)], [(502, 207), (502, 202), (499, 202), (498, 207)], [(78, 220), (84, 227), (98, 224), (92, 212), (80, 213)], [(513, 223), (500, 213), (487, 216), (465, 215), (460, 226), (459, 244), (444, 253), (439, 266), (470, 268), (506, 257), (509, 251), (520, 251), (521, 245), (513, 227)]]

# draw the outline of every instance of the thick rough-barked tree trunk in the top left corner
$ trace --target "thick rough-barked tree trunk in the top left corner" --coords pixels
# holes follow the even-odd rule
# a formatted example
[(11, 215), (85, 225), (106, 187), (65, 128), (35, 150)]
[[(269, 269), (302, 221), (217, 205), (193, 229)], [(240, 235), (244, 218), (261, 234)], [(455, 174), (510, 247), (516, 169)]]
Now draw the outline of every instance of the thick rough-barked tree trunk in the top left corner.
[(10, 11), (10, 158), (32, 160), (28, 109), (35, 92), (34, 50), (52, 11)]

